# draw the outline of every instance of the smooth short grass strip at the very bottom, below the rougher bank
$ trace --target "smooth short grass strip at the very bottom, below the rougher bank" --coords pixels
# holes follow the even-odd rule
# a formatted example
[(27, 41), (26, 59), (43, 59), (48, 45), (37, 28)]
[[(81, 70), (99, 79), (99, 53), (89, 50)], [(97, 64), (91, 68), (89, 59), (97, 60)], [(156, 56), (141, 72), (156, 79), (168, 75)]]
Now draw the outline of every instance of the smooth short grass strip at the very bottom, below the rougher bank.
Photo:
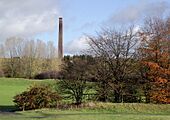
[(107, 110), (54, 110), (42, 109), (0, 114), (0, 120), (170, 120), (169, 114), (122, 113)]

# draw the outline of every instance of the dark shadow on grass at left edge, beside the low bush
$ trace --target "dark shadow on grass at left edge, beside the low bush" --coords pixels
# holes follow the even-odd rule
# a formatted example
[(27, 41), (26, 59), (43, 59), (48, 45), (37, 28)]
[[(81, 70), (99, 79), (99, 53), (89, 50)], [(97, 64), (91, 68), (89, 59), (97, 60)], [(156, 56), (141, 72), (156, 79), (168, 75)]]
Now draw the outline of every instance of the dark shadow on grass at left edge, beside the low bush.
[(0, 105), (0, 112), (15, 112), (17, 111), (18, 108), (16, 106), (13, 105)]

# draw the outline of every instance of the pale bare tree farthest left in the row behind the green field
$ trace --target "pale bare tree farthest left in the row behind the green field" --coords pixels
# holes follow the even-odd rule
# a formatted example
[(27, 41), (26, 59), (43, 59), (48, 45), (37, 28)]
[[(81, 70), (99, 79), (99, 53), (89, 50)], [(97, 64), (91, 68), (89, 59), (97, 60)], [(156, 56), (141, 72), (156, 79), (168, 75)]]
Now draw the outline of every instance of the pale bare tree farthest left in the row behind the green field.
[(19, 77), (22, 74), (22, 52), (24, 39), (11, 37), (5, 41), (5, 52), (3, 60), (4, 72), (10, 77)]

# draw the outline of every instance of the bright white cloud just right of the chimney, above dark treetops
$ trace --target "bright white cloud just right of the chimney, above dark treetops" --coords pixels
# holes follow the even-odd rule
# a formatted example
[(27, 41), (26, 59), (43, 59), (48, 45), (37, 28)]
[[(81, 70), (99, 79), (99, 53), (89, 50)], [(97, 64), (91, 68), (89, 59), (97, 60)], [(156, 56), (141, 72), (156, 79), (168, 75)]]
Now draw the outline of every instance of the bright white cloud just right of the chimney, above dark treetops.
[(88, 39), (86, 36), (82, 36), (69, 42), (64, 48), (66, 54), (81, 54), (88, 49)]

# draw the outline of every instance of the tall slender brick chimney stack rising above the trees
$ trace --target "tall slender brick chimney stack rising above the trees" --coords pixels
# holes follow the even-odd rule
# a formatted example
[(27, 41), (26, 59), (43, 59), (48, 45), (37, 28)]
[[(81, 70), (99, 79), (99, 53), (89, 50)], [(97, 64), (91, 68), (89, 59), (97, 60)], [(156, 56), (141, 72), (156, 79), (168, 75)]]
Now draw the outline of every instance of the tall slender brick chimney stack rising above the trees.
[(59, 17), (59, 32), (58, 32), (58, 58), (63, 57), (63, 20)]

